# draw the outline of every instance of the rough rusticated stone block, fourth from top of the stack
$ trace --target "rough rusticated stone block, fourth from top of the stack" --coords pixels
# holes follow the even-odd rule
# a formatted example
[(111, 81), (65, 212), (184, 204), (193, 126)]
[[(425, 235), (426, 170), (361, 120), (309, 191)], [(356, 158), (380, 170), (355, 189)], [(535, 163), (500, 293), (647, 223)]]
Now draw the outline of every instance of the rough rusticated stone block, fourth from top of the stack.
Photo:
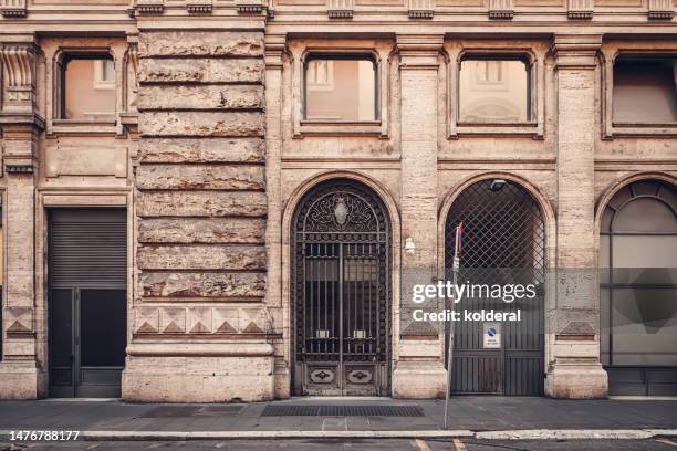
[(146, 136), (263, 136), (261, 113), (146, 112), (138, 118)]

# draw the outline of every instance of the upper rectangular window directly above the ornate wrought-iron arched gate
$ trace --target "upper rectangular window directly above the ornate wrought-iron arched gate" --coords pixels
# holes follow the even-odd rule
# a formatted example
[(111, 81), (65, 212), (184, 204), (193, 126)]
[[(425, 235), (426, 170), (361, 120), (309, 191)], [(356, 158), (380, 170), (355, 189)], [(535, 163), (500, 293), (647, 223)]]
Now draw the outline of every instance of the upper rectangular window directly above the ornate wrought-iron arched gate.
[(376, 63), (369, 56), (311, 56), (304, 74), (306, 120), (377, 120)]

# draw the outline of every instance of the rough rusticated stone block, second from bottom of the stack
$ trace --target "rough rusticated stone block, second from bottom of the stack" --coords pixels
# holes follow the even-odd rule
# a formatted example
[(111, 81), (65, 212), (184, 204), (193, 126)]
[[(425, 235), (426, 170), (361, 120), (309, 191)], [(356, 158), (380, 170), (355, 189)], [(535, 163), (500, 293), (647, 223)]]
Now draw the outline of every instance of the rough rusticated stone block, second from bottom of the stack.
[(265, 269), (265, 248), (251, 245), (144, 245), (137, 252), (143, 270), (258, 271)]

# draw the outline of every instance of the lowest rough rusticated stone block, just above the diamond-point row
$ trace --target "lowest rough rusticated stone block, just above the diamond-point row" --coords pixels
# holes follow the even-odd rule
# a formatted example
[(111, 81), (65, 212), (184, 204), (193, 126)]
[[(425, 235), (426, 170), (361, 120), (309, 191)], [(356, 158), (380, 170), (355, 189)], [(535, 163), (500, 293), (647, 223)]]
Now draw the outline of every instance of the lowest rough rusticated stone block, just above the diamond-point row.
[(144, 296), (153, 297), (263, 297), (261, 273), (152, 273), (140, 275)]

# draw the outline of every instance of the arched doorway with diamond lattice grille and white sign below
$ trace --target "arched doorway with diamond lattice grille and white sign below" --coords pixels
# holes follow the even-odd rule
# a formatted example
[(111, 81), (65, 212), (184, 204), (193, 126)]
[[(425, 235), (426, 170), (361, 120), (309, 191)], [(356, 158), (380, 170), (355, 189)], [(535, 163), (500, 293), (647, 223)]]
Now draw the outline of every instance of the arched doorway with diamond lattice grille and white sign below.
[[(445, 223), (448, 280), (451, 280), (455, 230), (461, 221), (465, 239), (458, 283), (479, 289), (466, 295), (456, 308), (519, 311), (520, 319), (485, 322), (461, 317), (454, 324), (451, 390), (541, 396), (546, 268), (543, 212), (531, 193), (511, 180), (486, 179), (466, 188), (451, 204)], [(494, 295), (496, 285), (502, 287), (499, 297)], [(509, 289), (511, 285), (533, 285), (534, 295), (506, 302), (511, 296), (504, 294), (514, 290)]]

